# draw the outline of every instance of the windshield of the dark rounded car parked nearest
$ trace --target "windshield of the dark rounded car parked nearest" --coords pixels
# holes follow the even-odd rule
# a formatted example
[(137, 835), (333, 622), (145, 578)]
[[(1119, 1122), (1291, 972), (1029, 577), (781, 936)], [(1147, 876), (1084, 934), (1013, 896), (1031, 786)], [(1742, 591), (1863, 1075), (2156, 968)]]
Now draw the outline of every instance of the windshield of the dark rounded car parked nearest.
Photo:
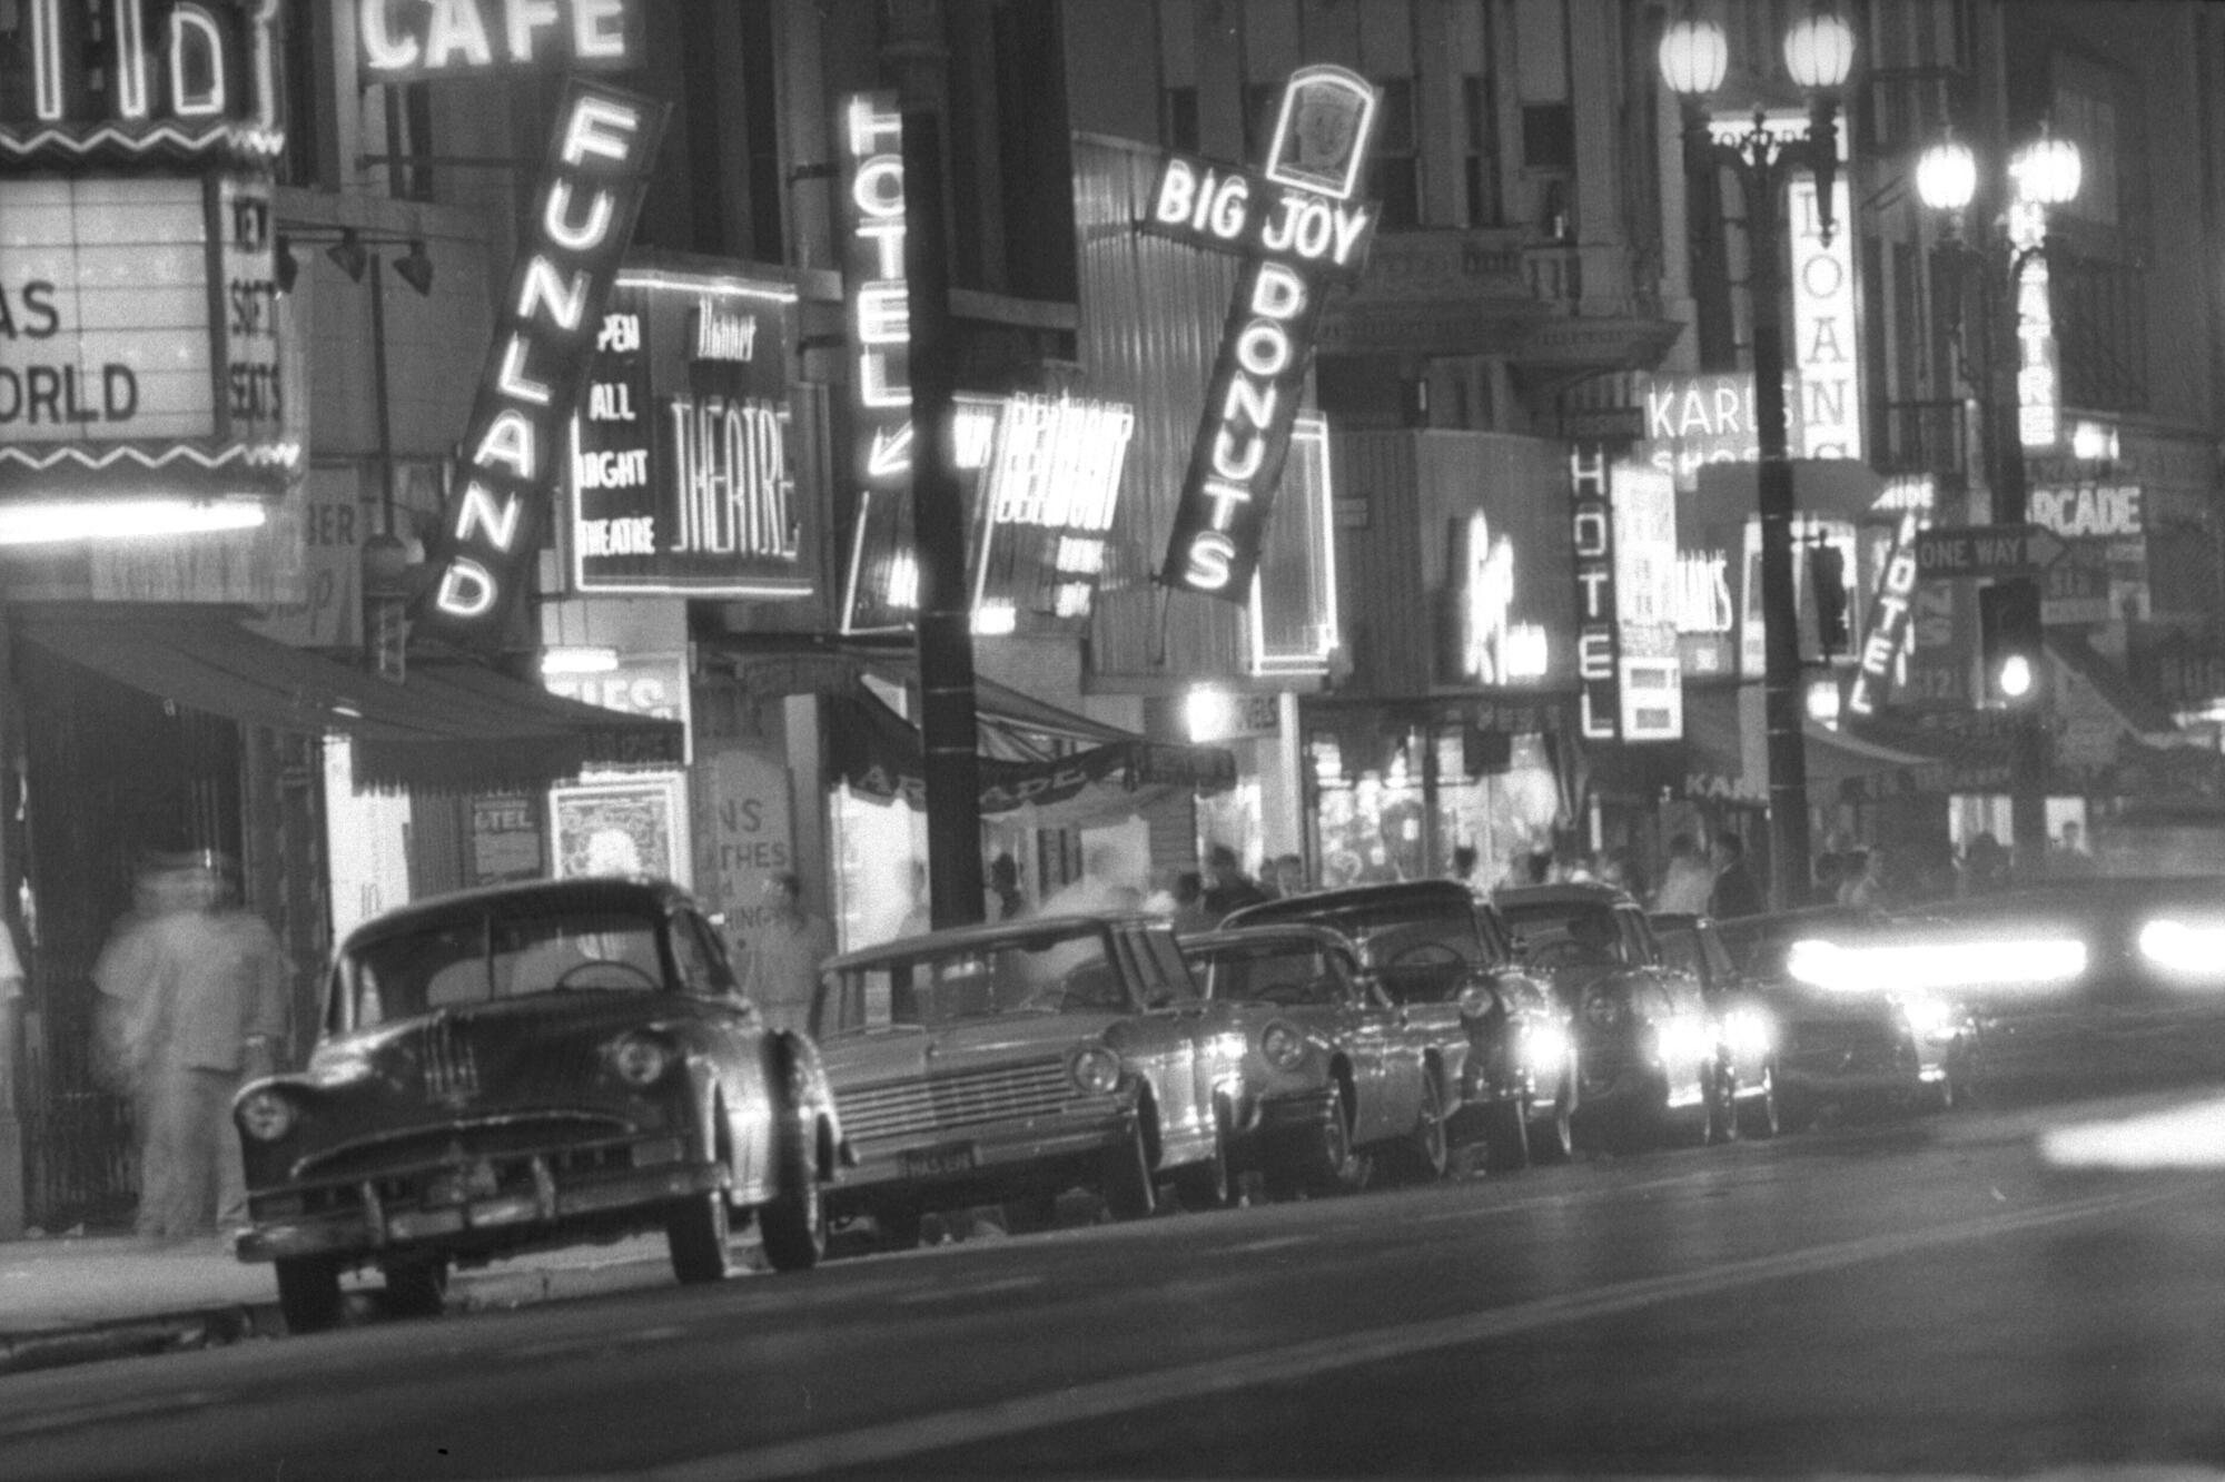
[(427, 926), (349, 950), (338, 990), (354, 1028), (534, 992), (665, 992), (659, 926), (610, 910)]

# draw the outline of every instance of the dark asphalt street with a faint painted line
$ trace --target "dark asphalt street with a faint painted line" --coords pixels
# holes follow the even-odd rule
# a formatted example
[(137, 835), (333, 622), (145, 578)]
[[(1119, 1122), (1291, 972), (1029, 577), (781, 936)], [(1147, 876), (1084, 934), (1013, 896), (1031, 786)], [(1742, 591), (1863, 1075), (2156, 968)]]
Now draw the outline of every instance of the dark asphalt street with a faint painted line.
[(2212, 1170), (1958, 1113), (0, 1386), (9, 1478), (2225, 1462)]

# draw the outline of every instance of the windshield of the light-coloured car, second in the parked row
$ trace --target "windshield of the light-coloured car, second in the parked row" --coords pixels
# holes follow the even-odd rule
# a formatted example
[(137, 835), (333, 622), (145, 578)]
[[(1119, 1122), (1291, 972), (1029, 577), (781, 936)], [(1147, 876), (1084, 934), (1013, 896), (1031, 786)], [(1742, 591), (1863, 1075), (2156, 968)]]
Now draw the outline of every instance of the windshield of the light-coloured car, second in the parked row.
[(821, 1039), (886, 1028), (941, 1028), (999, 1015), (1135, 1012), (1112, 939), (1072, 923), (1030, 935), (881, 957), (825, 975), (812, 1015)]

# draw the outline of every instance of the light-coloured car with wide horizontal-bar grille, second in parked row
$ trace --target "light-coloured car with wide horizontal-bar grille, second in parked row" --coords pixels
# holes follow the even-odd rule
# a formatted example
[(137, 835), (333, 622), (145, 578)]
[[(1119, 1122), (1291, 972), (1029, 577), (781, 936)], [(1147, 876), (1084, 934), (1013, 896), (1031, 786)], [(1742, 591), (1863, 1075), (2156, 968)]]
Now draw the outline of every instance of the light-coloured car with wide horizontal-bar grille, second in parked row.
[(1070, 1188), (1124, 1219), (1153, 1213), (1159, 1179), (1228, 1204), (1228, 1148), (1253, 1115), (1244, 1061), (1297, 1046), (1288, 1021), (1206, 1001), (1175, 932), (1144, 915), (834, 957), (812, 1030), (857, 1157), (832, 1211), (897, 1248), (930, 1211), (1001, 1202), (1008, 1228), (1039, 1228)]

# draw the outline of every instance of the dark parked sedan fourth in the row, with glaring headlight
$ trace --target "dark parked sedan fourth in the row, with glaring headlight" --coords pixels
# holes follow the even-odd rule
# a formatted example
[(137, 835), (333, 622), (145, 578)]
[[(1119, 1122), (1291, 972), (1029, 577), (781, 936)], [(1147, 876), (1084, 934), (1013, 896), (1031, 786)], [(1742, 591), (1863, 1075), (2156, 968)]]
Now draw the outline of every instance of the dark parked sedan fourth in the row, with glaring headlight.
[[(1222, 926), (1313, 921), (1359, 948), (1368, 984), (1431, 1039), (1422, 1168), (1482, 1142), (1493, 1168), (1566, 1157), (1575, 1070), (1566, 1017), (1513, 961), (1491, 906), (1448, 879), (1295, 895), (1230, 912)], [(1442, 1130), (1431, 1130), (1442, 1128)]]

